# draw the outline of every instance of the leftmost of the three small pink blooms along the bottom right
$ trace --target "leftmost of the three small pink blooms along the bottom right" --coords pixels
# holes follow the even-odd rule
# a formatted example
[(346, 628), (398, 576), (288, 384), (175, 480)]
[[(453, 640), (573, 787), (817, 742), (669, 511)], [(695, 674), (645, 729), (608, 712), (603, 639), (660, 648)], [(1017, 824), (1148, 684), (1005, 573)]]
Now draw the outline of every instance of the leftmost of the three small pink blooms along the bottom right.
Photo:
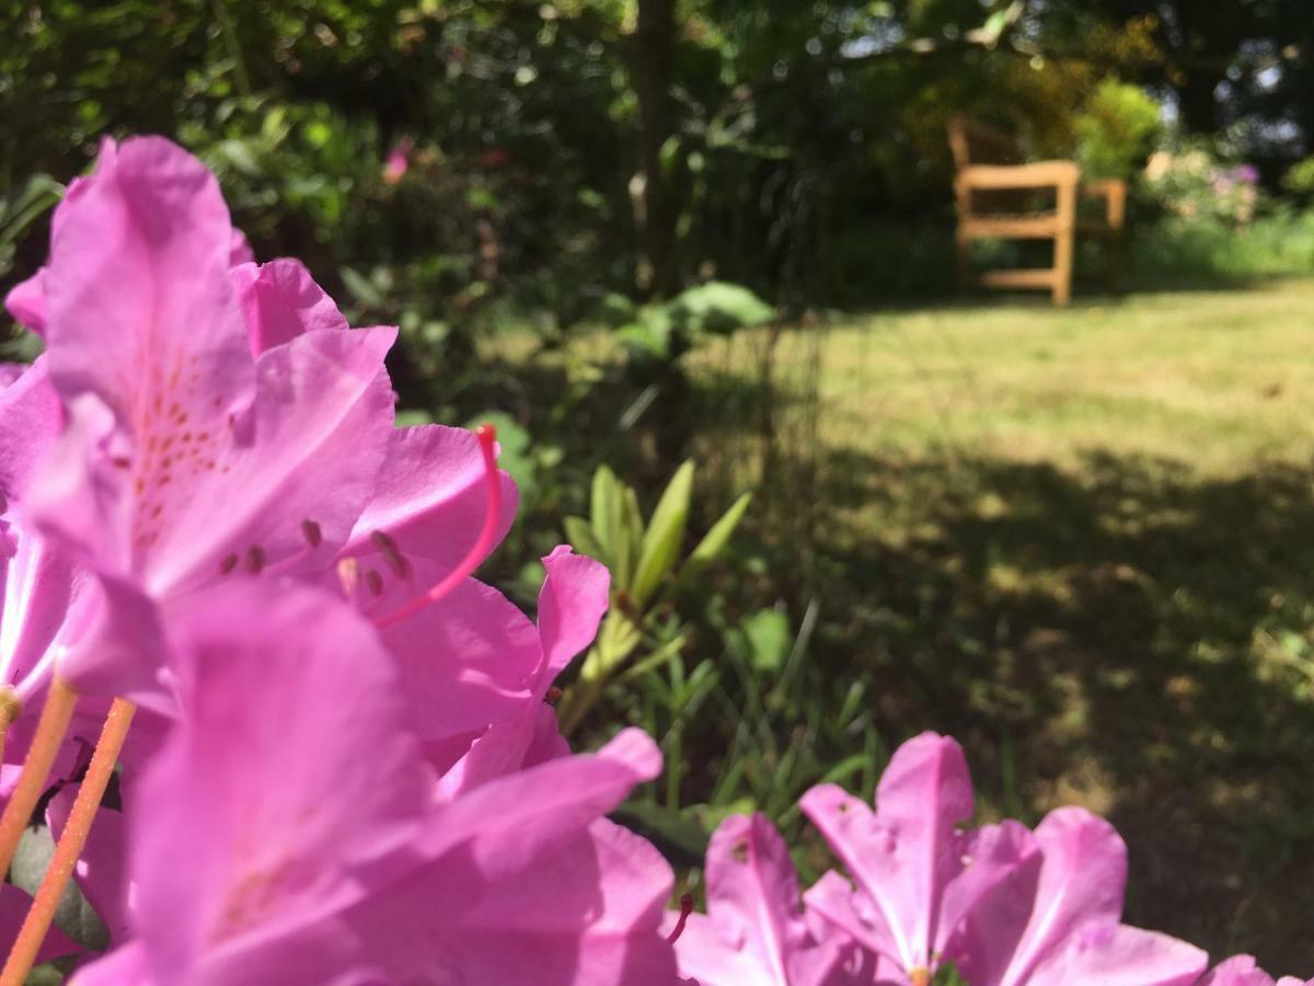
[(679, 972), (700, 986), (859, 986), (870, 956), (803, 914), (788, 848), (766, 816), (732, 815), (707, 847), (707, 915), (675, 939)]

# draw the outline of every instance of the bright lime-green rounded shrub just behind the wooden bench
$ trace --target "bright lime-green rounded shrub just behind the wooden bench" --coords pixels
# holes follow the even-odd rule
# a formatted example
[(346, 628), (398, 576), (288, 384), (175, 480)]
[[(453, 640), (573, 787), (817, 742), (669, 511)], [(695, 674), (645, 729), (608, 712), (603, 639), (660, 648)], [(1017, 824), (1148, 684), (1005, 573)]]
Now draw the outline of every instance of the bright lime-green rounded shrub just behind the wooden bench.
[(1139, 85), (1109, 78), (1072, 122), (1088, 177), (1133, 179), (1163, 133), (1159, 104)]

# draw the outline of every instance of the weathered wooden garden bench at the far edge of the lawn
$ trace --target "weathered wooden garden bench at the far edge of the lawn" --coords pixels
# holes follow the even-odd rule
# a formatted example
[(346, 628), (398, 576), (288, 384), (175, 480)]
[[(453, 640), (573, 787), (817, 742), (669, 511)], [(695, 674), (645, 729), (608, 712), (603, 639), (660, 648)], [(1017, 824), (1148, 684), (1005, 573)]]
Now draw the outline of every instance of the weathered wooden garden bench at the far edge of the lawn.
[[(1122, 231), (1127, 212), (1127, 184), (1118, 179), (1081, 181), (1075, 160), (1025, 163), (1007, 134), (963, 117), (949, 124), (954, 153), (954, 197), (958, 202), (958, 284), (986, 288), (1038, 288), (1055, 305), (1072, 297), (1072, 251), (1079, 233), (1104, 241), (1105, 275), (1116, 288), (1122, 273)], [(1049, 201), (1037, 204), (1037, 199)], [(1077, 199), (1102, 200), (1102, 218), (1079, 220)], [(974, 239), (1053, 239), (1054, 266), (975, 273)]]

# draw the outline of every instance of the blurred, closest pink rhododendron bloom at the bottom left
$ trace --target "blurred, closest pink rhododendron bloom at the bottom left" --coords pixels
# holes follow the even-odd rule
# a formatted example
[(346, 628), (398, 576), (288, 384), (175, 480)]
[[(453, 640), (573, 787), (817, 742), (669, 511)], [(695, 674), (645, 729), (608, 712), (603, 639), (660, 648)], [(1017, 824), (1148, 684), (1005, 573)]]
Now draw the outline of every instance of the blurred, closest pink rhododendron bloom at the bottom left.
[(675, 981), (670, 869), (600, 818), (660, 770), (646, 736), (436, 799), (342, 602), (233, 584), (172, 634), (183, 715), (134, 794), (135, 937), (79, 986)]

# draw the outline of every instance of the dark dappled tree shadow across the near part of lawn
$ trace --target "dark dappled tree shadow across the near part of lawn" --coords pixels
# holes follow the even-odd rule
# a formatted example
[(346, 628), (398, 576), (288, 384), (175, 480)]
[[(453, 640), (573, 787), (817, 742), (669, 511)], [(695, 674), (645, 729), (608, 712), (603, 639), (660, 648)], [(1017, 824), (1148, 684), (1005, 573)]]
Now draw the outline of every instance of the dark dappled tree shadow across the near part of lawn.
[[(1314, 469), (840, 455), (823, 476), (819, 659), (857, 657), (899, 736), (958, 735), (995, 807), (1108, 814), (1127, 920), (1314, 968)], [(879, 530), (850, 511), (909, 504), (912, 536), (844, 543)]]

